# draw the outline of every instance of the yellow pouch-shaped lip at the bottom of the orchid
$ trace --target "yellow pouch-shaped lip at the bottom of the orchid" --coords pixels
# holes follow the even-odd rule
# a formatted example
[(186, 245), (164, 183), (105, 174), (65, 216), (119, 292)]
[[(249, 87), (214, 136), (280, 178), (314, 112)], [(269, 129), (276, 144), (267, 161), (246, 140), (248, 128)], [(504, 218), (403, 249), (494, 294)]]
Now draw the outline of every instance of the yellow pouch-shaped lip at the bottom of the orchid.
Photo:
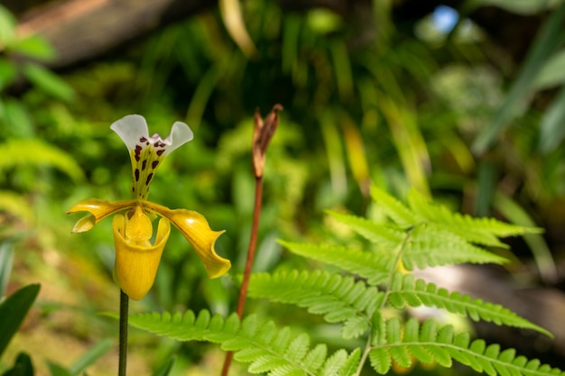
[(139, 300), (152, 288), (161, 261), (162, 250), (171, 234), (171, 224), (161, 218), (155, 243), (139, 245), (125, 237), (126, 220), (123, 215), (114, 216), (112, 229), (116, 246), (116, 275), (120, 288), (129, 298)]

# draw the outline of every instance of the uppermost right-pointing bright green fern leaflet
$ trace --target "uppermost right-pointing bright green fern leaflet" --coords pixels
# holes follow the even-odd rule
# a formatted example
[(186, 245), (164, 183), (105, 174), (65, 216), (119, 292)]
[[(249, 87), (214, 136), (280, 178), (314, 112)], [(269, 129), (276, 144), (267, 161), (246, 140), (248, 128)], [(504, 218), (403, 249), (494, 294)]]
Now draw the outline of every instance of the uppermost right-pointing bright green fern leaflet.
[(495, 218), (475, 218), (451, 212), (445, 206), (428, 202), (417, 191), (412, 190), (407, 197), (408, 205), (414, 215), (422, 222), (436, 226), (440, 230), (457, 234), (471, 243), (507, 248), (499, 237), (540, 233), (540, 229), (511, 225)]

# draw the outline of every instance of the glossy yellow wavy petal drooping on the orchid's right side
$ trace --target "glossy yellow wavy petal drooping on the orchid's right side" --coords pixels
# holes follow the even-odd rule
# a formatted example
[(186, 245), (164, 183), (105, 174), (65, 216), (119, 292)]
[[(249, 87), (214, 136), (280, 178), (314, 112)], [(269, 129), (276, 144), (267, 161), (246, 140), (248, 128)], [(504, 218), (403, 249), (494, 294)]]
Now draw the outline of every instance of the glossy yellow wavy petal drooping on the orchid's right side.
[(231, 262), (218, 256), (214, 250), (216, 239), (224, 231), (212, 231), (206, 218), (192, 210), (171, 210), (150, 201), (144, 201), (144, 206), (168, 218), (181, 231), (204, 263), (209, 278), (221, 277), (229, 271)]

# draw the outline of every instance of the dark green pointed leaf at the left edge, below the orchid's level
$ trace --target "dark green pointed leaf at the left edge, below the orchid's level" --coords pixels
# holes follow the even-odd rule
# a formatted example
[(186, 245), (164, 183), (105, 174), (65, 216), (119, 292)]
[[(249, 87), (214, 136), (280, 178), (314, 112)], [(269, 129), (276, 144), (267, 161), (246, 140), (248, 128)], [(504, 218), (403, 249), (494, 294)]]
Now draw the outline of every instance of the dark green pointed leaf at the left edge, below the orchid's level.
[(25, 286), (0, 303), (0, 356), (22, 325), (23, 318), (37, 298), (39, 289), (39, 284)]

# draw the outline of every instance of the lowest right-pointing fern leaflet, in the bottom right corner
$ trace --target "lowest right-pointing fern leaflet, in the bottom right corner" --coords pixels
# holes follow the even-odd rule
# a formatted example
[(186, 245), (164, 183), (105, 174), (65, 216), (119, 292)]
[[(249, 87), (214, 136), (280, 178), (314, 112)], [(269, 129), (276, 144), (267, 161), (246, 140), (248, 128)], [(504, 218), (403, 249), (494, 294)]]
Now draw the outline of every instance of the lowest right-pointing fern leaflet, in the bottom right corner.
[(433, 320), (420, 325), (417, 319), (410, 318), (402, 325), (397, 317), (385, 321), (375, 315), (374, 325), (380, 333), (375, 333), (369, 361), (380, 374), (390, 370), (393, 360), (410, 367), (413, 357), (419, 362), (437, 362), (443, 367), (450, 367), (456, 360), (490, 376), (565, 375), (537, 360), (528, 362), (523, 356), (516, 357), (514, 349), (501, 352), (498, 344), (486, 346), (483, 340), (470, 342), (468, 333), (455, 334), (453, 326), (439, 326)]

